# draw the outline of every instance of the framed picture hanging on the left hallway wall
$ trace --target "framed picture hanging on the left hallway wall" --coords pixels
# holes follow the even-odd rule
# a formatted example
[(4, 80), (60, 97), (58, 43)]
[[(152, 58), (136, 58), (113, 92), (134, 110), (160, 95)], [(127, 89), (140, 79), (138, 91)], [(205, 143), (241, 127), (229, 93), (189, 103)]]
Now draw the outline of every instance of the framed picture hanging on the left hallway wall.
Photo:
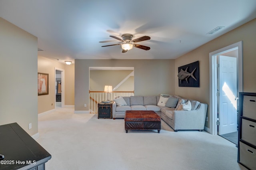
[(38, 92), (38, 96), (49, 94), (48, 80), (49, 80), (49, 74), (47, 74), (47, 73), (38, 73), (37, 74), (37, 82), (38, 82), (37, 92)]

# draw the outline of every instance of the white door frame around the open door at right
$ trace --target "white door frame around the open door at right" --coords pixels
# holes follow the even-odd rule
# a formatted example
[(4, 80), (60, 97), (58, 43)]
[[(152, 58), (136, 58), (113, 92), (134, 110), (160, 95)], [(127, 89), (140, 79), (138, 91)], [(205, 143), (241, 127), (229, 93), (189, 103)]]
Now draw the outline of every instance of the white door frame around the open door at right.
[[(209, 118), (210, 118), (210, 129), (207, 131), (210, 134), (218, 134), (218, 125), (217, 114), (218, 113), (218, 72), (217, 72), (217, 55), (238, 49), (238, 58), (237, 58), (237, 70), (238, 70), (238, 91), (243, 91), (243, 42), (237, 42), (232, 45), (228, 45), (216, 51), (209, 53), (209, 65), (210, 65), (210, 108), (209, 108)], [(239, 100), (239, 99), (238, 99)], [(239, 103), (239, 102), (238, 102)]]

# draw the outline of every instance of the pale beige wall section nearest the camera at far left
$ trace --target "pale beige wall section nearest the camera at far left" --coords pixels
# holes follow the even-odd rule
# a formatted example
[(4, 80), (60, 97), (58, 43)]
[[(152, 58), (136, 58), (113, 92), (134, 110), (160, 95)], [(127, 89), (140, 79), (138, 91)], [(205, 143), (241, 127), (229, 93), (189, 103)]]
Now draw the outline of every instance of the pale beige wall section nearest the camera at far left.
[(0, 58), (0, 125), (16, 122), (36, 134), (37, 38), (0, 18)]

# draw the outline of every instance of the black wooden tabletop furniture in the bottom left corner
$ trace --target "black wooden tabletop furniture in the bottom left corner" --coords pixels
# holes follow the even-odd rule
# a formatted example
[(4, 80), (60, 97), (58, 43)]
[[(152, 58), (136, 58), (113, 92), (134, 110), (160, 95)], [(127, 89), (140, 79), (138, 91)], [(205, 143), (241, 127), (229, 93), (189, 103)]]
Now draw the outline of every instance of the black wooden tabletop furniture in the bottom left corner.
[(17, 123), (0, 126), (0, 170), (44, 170), (51, 155)]

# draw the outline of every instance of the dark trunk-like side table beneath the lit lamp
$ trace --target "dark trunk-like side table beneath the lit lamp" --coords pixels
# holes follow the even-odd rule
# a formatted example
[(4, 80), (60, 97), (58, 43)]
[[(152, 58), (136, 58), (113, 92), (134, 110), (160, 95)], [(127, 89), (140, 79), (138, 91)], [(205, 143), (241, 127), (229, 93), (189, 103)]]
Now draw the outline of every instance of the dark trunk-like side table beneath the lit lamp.
[(98, 119), (112, 119), (112, 105), (114, 101), (109, 103), (98, 103)]

